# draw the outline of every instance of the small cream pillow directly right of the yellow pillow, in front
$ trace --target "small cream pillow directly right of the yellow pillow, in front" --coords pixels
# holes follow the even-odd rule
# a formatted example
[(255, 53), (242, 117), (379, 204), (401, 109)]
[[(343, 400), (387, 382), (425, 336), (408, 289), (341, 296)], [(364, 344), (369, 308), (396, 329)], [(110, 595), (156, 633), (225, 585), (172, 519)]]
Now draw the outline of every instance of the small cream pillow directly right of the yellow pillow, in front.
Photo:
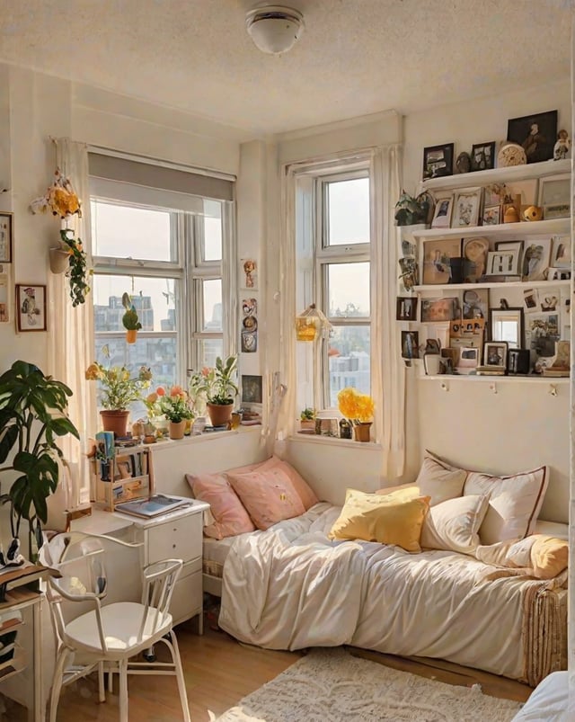
[(479, 528), (489, 509), (489, 494), (459, 496), (429, 509), (421, 547), (473, 554), (481, 544)]

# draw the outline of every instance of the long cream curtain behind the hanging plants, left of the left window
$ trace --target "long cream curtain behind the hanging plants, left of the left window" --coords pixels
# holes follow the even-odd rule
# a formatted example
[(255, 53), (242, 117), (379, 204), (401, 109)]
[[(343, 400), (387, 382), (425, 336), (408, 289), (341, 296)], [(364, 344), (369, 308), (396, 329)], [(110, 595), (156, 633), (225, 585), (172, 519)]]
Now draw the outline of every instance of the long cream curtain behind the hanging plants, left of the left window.
[[(88, 152), (84, 143), (69, 138), (58, 138), (56, 144), (57, 167), (66, 175), (82, 201), (82, 218), (74, 216), (68, 227), (74, 228), (74, 237), (81, 238), (92, 268), (92, 242), (90, 223), (90, 190), (88, 186)], [(55, 229), (55, 244), (59, 230)], [(90, 281), (88, 281), (90, 283)], [(95, 384), (89, 384), (84, 372), (93, 361), (93, 299), (88, 293), (85, 303), (75, 308), (69, 297), (68, 279), (64, 274), (49, 273), (48, 282), (48, 373), (72, 389), (68, 401), (68, 414), (81, 441), (72, 436), (62, 439), (61, 449), (72, 471), (73, 495), (67, 500), (71, 507), (88, 501), (89, 472), (85, 460), (87, 440), (96, 432)]]

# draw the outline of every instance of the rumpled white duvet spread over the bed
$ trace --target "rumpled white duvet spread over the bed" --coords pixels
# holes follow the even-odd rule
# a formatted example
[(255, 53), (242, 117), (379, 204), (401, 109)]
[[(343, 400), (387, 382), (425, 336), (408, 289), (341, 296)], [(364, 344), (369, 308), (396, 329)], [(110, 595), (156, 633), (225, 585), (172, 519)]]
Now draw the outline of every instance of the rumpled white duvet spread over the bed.
[(523, 591), (537, 583), (484, 581), (492, 567), (462, 554), (331, 541), (340, 511), (315, 504), (236, 539), (224, 566), (220, 627), (270, 649), (348, 644), (522, 678)]

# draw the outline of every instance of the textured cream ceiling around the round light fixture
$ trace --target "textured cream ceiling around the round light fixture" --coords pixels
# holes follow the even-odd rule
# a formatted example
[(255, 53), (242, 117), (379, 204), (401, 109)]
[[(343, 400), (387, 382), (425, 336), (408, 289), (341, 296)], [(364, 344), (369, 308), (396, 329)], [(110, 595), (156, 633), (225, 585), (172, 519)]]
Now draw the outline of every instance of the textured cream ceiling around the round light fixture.
[(0, 61), (246, 137), (570, 75), (570, 0), (284, 0), (304, 13), (305, 32), (283, 56), (261, 53), (245, 31), (257, 4), (0, 0)]

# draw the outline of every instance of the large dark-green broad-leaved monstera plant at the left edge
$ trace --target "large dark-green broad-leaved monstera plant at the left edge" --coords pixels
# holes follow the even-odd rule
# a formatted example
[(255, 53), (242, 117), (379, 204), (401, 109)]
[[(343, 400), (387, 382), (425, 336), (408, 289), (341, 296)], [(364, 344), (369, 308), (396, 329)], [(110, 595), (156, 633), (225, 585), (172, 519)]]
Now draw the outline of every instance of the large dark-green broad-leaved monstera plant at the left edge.
[[(46, 500), (56, 491), (62, 451), (57, 440), (71, 433), (80, 438), (66, 415), (72, 391), (61, 381), (45, 376), (26, 361), (14, 361), (0, 376), (0, 467), (2, 476), (14, 476), (2, 504), (10, 505), (13, 539), (18, 539), (22, 519), (28, 521), (31, 560), (42, 544), (41, 525), (48, 519)], [(11, 454), (13, 456), (9, 459)]]

